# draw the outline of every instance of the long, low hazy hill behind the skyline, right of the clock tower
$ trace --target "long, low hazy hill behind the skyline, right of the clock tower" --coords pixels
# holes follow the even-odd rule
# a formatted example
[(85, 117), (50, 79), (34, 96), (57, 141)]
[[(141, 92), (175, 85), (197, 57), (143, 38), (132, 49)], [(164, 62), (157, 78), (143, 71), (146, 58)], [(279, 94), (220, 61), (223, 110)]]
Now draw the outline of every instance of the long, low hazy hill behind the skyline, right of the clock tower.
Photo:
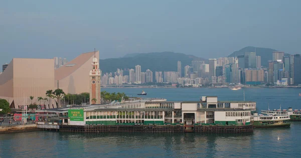
[[(176, 52), (150, 52), (150, 53), (134, 53), (120, 58), (107, 58), (99, 60), (99, 67), (102, 72), (115, 72), (117, 68), (135, 68), (135, 65), (141, 65), (141, 71), (146, 69), (155, 71), (177, 71), (178, 61), (182, 63), (182, 75), (184, 74), (184, 66), (191, 65), (192, 60), (204, 60), (208, 63), (208, 59), (196, 57)], [(155, 74), (154, 74), (155, 75)]]

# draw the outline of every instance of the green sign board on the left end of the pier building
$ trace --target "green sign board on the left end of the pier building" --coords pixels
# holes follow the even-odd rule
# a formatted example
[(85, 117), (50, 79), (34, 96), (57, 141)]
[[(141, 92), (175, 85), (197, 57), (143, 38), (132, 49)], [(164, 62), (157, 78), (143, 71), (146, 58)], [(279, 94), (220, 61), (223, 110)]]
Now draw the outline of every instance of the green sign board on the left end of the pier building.
[(85, 125), (83, 109), (68, 109), (70, 125)]

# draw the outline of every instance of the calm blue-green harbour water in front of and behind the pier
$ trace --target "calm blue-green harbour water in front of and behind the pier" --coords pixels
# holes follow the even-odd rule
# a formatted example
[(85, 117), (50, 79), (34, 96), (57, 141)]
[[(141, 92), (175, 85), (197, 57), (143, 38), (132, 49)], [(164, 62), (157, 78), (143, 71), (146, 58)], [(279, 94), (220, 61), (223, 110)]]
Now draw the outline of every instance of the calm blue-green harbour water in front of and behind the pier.
[[(138, 88), (102, 88), (136, 96)], [(199, 100), (243, 100), (243, 90), (228, 88), (143, 88), (147, 97)], [(301, 109), (296, 88), (247, 88), (245, 100), (258, 109)], [(290, 128), (255, 129), (251, 134), (60, 133), (34, 131), (0, 134), (1, 157), (299, 157), (301, 122)]]

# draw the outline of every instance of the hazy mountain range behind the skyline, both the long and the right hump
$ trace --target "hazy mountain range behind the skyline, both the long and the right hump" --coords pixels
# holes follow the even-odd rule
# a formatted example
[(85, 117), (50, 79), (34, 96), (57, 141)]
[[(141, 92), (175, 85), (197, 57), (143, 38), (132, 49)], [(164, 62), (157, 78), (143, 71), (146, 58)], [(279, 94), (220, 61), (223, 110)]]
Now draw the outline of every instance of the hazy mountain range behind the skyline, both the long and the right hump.
[[(243, 55), (244, 52), (254, 52), (261, 56), (261, 65), (267, 66), (268, 60), (272, 59), (272, 52), (277, 51), (271, 48), (261, 48), (247, 46), (238, 51), (234, 51), (228, 57), (236, 55)], [(187, 55), (184, 53), (176, 53), (170, 51), (164, 52), (149, 52), (149, 53), (131, 53), (119, 58), (100, 59), (99, 66), (102, 72), (115, 72), (117, 68), (135, 68), (135, 65), (141, 65), (141, 71), (150, 69), (155, 71), (177, 71), (178, 61), (182, 63), (182, 73), (184, 73), (184, 66), (191, 65), (192, 60), (204, 60), (208, 63), (208, 59), (197, 57), (195, 55)]]

